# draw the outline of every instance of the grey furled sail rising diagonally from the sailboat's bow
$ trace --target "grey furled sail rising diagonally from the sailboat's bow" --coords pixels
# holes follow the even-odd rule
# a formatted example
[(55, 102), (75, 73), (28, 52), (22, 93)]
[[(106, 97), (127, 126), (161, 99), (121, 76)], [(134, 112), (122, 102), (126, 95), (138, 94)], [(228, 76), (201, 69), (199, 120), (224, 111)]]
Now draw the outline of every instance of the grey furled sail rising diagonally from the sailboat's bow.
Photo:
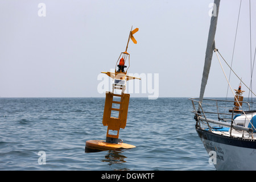
[(220, 0), (214, 0), (212, 18), (210, 19), (210, 29), (209, 29), (209, 35), (208, 35), (208, 41), (207, 41), (207, 49), (205, 52), (203, 78), (201, 81), (201, 90), (200, 90), (200, 97), (199, 97), (200, 102), (203, 101), (205, 86), (207, 85), (208, 75), (210, 71), (210, 64), (212, 63), (213, 50), (215, 48), (214, 37), (215, 37), (215, 32), (217, 27), (219, 6), (220, 6)]

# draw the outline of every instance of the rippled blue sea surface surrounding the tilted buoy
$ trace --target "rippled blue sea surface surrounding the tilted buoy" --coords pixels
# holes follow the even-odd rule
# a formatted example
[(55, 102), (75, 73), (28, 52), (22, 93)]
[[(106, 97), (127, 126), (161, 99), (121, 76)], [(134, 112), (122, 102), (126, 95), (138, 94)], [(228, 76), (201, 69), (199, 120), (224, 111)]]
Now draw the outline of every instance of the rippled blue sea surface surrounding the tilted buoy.
[(85, 152), (105, 140), (105, 98), (0, 98), (0, 170), (215, 170), (188, 98), (130, 98), (119, 138), (136, 148)]

